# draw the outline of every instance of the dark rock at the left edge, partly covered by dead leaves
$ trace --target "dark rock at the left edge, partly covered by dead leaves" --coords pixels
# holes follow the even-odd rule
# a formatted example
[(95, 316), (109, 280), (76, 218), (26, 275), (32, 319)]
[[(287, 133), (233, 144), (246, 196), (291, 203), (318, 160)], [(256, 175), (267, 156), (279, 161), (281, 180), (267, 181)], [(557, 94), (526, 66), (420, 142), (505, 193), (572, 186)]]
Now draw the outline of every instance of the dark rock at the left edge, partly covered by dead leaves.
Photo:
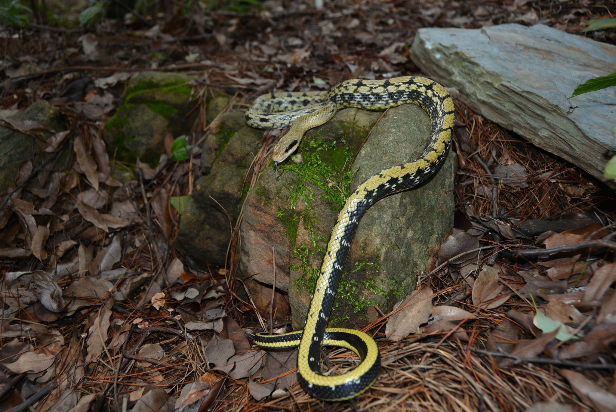
[[(55, 132), (65, 129), (58, 110), (45, 100), (34, 102), (34, 104), (10, 118), (43, 123)], [(43, 131), (43, 134), (49, 138), (52, 132)], [(46, 146), (46, 142), (29, 134), (0, 127), (0, 152), (2, 153), (0, 157), (0, 193), (4, 193), (10, 187), (15, 186), (15, 179), (23, 162), (32, 160), (35, 163), (34, 167), (36, 167), (37, 162), (50, 155), (43, 151)], [(70, 154), (70, 150), (69, 147), (64, 152)], [(68, 165), (68, 156), (65, 153), (61, 154), (63, 159), (56, 163), (56, 167)]]

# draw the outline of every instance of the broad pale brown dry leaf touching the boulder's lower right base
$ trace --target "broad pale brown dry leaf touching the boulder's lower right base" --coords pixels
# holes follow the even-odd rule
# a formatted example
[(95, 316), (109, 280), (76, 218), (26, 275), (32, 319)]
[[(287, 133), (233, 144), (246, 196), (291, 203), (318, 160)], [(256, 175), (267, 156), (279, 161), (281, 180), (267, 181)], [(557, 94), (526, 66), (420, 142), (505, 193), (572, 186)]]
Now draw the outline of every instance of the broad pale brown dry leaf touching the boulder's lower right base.
[[(400, 340), (408, 334), (415, 333), (419, 325), (428, 322), (432, 314), (432, 289), (426, 289), (407, 295), (394, 306), (394, 315), (387, 321), (385, 334), (388, 340)], [(400, 310), (397, 310), (402, 307)]]

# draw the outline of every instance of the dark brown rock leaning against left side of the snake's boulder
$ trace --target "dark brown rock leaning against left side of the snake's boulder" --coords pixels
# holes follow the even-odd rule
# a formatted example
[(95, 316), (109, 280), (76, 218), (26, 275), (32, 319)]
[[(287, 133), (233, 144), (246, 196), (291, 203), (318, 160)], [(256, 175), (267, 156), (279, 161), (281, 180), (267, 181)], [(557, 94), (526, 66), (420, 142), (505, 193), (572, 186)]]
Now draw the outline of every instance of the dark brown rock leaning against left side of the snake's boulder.
[[(242, 120), (243, 122), (243, 120)], [(249, 180), (246, 175), (259, 151), (262, 130), (241, 123), (213, 162), (209, 175), (195, 183), (190, 202), (182, 212), (177, 250), (193, 266), (224, 266), (230, 240)]]

